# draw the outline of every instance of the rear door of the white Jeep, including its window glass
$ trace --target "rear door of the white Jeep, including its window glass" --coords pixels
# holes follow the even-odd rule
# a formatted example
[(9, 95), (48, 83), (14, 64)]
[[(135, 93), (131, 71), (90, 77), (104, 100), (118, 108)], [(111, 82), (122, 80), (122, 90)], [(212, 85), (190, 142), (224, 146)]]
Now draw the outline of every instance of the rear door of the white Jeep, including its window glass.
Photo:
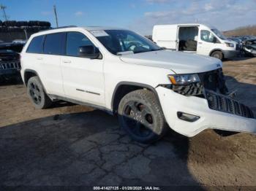
[(49, 94), (64, 95), (61, 55), (64, 55), (65, 40), (66, 33), (47, 34), (43, 45), (43, 55), (37, 58), (42, 62), (39, 71)]

